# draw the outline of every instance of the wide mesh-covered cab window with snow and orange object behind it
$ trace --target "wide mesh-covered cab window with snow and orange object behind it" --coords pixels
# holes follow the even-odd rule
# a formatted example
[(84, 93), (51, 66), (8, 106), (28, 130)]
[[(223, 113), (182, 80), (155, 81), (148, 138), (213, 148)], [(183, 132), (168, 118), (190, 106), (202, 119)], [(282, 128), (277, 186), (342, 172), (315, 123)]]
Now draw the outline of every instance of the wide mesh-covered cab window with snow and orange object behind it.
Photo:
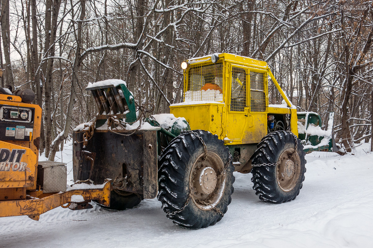
[(195, 65), (189, 69), (185, 102), (223, 101), (223, 63)]

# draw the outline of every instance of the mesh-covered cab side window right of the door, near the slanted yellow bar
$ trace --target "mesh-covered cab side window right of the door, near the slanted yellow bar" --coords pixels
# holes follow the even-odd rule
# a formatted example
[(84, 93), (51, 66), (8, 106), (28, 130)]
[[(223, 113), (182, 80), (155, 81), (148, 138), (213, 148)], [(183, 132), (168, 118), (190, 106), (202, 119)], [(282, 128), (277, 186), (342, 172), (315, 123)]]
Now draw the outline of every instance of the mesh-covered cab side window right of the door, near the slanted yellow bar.
[(250, 71), (250, 110), (253, 112), (266, 111), (264, 73)]

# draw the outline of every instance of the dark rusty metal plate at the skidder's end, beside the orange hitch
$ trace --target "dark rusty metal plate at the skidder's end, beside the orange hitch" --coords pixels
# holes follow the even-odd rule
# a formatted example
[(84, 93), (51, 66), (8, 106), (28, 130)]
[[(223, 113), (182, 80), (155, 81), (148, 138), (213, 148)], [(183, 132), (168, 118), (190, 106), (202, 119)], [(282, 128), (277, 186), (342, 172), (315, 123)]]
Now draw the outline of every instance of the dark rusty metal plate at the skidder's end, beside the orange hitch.
[[(83, 133), (77, 133), (74, 141), (81, 141)], [(74, 142), (73, 172), (74, 180), (78, 178), (81, 159), (77, 151), (95, 153), (91, 180), (102, 184), (106, 178), (127, 176), (123, 190), (144, 194), (144, 198), (156, 197), (157, 182), (157, 131), (138, 130), (130, 136), (112, 132), (95, 132), (86, 147)], [(79, 152), (78, 152), (79, 153)]]

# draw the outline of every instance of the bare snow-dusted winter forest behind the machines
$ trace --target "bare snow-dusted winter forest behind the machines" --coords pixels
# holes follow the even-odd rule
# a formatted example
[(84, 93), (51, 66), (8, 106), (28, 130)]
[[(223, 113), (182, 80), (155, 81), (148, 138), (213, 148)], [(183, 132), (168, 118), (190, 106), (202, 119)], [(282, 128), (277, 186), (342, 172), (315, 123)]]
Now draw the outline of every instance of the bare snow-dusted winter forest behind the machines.
[[(335, 112), (336, 141), (369, 141), (373, 3), (338, 0), (1, 0), (1, 86), (32, 89), (51, 160), (97, 109), (89, 82), (122, 79), (159, 114), (183, 101), (182, 61), (266, 61), (298, 111)], [(271, 90), (271, 89), (269, 89)], [(276, 93), (270, 102), (282, 100)]]

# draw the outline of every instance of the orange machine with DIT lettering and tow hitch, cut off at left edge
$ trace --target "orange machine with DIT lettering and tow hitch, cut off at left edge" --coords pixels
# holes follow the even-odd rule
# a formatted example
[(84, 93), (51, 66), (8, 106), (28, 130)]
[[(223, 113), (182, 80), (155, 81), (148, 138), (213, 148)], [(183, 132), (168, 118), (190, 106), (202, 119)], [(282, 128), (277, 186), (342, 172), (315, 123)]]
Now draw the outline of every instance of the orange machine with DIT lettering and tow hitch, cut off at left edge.
[(77, 183), (66, 191), (66, 164), (38, 163), (41, 108), (31, 104), (34, 98), (30, 89), (13, 95), (0, 88), (0, 217), (28, 215), (38, 220), (63, 204), (73, 210), (89, 208), (91, 200), (109, 206), (110, 180)]

